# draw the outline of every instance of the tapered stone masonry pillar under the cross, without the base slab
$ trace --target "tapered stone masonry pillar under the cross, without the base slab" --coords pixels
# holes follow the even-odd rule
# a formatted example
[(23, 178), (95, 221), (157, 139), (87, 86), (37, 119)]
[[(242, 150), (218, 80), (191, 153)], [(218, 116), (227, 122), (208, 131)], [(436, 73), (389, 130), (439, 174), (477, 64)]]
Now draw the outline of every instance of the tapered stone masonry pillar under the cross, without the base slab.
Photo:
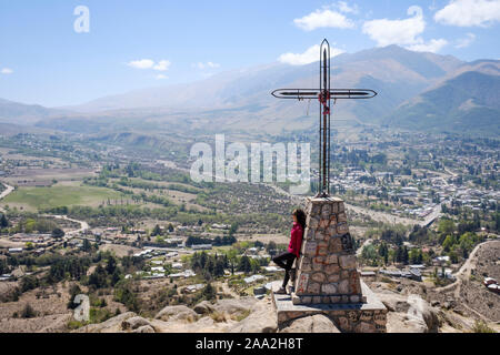
[(306, 231), (292, 302), (360, 303), (363, 300), (356, 252), (343, 201), (308, 199)]

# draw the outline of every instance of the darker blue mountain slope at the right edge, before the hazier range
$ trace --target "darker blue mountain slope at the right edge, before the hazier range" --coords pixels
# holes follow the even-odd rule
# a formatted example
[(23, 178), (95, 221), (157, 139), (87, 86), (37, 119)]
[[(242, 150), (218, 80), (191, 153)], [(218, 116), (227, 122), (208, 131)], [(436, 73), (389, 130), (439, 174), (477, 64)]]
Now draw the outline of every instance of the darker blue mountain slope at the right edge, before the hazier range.
[(500, 62), (483, 61), (391, 113), (386, 123), (416, 130), (500, 133)]

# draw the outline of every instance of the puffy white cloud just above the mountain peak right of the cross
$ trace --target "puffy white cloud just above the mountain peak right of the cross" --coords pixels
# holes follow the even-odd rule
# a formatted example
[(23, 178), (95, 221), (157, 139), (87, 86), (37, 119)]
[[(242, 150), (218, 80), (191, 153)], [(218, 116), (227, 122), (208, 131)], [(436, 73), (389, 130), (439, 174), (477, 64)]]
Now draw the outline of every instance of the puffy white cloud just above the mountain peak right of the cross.
[(412, 6), (407, 13), (412, 17), (404, 20), (379, 19), (367, 21), (362, 31), (374, 40), (379, 47), (417, 44), (417, 37), (426, 29), (422, 9)]

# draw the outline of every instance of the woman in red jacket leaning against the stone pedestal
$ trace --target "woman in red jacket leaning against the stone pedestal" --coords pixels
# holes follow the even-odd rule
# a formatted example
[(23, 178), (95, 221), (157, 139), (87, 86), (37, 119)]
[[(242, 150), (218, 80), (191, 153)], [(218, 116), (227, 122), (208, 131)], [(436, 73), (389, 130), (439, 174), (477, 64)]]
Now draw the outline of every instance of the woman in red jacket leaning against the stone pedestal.
[(299, 257), (300, 247), (302, 246), (303, 231), (306, 230), (306, 213), (302, 210), (297, 209), (292, 212), (293, 227), (291, 230), (290, 243), (288, 245), (288, 252), (284, 252), (276, 256), (272, 261), (280, 267), (284, 268), (284, 280), (281, 288), (277, 291), (277, 294), (287, 294), (287, 284), (290, 280), (290, 270), (293, 265), (296, 257)]

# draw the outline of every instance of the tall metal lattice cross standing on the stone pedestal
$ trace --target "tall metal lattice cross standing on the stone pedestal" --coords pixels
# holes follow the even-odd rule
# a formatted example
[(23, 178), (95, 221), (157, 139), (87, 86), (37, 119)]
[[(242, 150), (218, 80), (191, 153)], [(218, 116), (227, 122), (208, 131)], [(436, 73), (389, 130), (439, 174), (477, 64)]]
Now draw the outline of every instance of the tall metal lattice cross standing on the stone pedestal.
[(328, 196), (330, 194), (331, 99), (371, 99), (377, 95), (377, 92), (369, 89), (330, 89), (330, 43), (324, 39), (320, 47), (319, 89), (278, 89), (272, 92), (272, 95), (278, 99), (298, 100), (318, 98), (320, 102), (318, 196)]

